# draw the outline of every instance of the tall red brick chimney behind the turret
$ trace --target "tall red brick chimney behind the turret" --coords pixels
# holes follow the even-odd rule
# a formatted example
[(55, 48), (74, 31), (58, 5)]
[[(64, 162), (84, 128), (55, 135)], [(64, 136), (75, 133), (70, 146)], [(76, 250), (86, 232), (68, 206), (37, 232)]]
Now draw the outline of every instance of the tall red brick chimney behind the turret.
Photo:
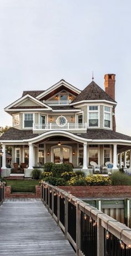
[[(105, 92), (115, 100), (115, 74), (105, 74), (104, 79)], [(116, 130), (115, 107), (113, 107), (113, 130)]]

